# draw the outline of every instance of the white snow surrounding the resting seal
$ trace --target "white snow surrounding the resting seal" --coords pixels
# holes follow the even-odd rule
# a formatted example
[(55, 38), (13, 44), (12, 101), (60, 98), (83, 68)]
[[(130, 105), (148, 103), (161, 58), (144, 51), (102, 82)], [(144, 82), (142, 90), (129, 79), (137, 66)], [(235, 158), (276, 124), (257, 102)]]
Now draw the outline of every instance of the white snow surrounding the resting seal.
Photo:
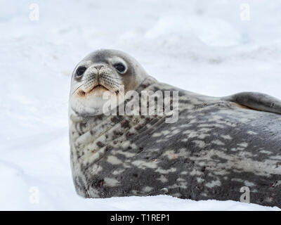
[[(32, 3), (38, 21), (30, 20)], [(93, 50), (125, 51), (189, 91), (281, 98), (281, 1), (247, 0), (249, 20), (241, 20), (241, 4), (1, 0), (0, 210), (280, 210), (164, 195), (85, 200), (72, 184), (70, 75)]]

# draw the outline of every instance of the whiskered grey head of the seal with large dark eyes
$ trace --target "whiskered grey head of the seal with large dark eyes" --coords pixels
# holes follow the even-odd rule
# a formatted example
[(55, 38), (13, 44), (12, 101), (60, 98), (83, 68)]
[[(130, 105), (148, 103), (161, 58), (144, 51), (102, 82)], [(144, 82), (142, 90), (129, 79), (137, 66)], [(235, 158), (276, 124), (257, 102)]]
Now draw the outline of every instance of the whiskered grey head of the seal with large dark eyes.
[(70, 109), (78, 115), (103, 114), (110, 96), (135, 90), (148, 77), (128, 54), (111, 49), (94, 51), (78, 63), (72, 73)]

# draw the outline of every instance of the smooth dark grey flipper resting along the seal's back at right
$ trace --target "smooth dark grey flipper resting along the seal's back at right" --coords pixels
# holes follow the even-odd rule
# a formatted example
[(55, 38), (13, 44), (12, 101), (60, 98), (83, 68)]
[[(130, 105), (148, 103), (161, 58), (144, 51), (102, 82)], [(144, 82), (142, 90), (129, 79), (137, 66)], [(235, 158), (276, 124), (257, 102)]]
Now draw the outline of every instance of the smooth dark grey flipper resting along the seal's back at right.
[(259, 92), (240, 92), (221, 98), (223, 101), (232, 101), (247, 106), (253, 110), (281, 114), (281, 100), (268, 94)]

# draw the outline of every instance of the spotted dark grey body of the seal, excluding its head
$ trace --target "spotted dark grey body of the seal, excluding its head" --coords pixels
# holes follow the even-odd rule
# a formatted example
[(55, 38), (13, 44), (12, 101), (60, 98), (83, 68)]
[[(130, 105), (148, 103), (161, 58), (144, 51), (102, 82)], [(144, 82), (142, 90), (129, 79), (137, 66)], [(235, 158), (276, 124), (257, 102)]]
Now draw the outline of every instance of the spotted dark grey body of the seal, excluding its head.
[[(237, 104), (245, 101), (242, 95), (202, 96), (148, 75), (135, 90), (178, 91), (178, 119), (167, 123), (168, 115), (85, 115), (70, 105), (70, 158), (79, 195), (237, 201), (247, 186), (250, 203), (281, 206), (277, 99), (266, 96), (275, 103), (259, 103), (263, 94), (247, 94), (251, 101), (244, 102), (245, 108)], [(277, 113), (249, 109), (259, 105)]]

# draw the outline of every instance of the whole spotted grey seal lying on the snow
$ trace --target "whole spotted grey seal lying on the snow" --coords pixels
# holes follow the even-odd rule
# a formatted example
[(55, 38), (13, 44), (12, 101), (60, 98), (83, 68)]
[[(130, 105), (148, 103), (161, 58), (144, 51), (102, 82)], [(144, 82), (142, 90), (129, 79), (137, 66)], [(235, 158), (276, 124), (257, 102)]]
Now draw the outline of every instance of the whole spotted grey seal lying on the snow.
[(74, 69), (70, 159), (85, 198), (167, 194), (281, 207), (281, 101), (203, 96), (158, 82), (122, 51)]

